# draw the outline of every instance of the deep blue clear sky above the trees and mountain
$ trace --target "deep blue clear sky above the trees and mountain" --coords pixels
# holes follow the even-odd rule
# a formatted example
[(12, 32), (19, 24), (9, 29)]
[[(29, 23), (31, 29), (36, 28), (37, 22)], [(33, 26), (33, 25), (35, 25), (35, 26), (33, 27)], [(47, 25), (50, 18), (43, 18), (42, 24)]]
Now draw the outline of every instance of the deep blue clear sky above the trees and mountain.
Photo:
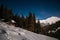
[(3, 0), (0, 4), (12, 8), (14, 14), (23, 13), (26, 16), (31, 11), (37, 19), (60, 17), (60, 0)]

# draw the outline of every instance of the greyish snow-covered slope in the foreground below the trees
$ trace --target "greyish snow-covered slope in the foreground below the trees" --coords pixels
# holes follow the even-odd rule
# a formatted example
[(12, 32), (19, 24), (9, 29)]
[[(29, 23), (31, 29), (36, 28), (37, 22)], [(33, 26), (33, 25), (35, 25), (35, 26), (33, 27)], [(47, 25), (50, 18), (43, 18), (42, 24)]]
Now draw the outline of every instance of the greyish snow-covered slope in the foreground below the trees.
[[(2, 30), (6, 32), (2, 32)], [(0, 22), (0, 40), (58, 40)]]

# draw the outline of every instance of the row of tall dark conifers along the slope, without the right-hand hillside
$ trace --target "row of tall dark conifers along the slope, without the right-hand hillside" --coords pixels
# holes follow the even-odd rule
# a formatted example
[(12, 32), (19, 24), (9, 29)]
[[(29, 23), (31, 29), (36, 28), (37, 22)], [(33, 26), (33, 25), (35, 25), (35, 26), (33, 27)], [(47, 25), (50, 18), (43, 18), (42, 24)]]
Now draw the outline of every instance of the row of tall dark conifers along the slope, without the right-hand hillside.
[(0, 19), (5, 19), (5, 22), (14, 20), (15, 26), (16, 27), (20, 27), (23, 29), (27, 29), (29, 31), (32, 32), (36, 32), (39, 33), (41, 26), (40, 23), (38, 22), (36, 24), (36, 18), (35, 18), (35, 14), (32, 12), (29, 12), (29, 15), (24, 17), (23, 14), (21, 14), (21, 16), (18, 16), (18, 13), (14, 14), (12, 12), (12, 9), (8, 9), (6, 6), (1, 5), (0, 6)]

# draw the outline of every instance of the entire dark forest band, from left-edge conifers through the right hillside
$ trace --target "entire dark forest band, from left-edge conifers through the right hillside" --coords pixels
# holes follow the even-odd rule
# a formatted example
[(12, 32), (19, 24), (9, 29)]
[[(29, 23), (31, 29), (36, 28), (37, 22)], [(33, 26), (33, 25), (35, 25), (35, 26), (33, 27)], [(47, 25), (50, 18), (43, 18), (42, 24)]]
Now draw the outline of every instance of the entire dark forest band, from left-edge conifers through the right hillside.
[(57, 30), (58, 27), (60, 27), (60, 21), (56, 22), (55, 24), (42, 27), (39, 20), (36, 23), (36, 16), (34, 13), (29, 12), (29, 15), (26, 17), (23, 14), (21, 14), (21, 16), (18, 16), (18, 13), (14, 14), (12, 12), (12, 9), (8, 9), (4, 5), (0, 6), (0, 19), (5, 19), (4, 22), (14, 20), (16, 22), (16, 27), (60, 39), (60, 30)]

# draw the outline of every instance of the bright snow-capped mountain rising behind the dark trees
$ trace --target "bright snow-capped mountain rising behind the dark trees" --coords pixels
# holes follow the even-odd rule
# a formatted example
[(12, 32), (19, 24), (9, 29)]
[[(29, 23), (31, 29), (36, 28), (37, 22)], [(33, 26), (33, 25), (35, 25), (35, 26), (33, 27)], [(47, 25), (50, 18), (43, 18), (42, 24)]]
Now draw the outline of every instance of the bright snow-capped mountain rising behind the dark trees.
[[(55, 16), (52, 16), (52, 17), (49, 17), (45, 20), (40, 20), (40, 23), (43, 25), (48, 25), (48, 24), (53, 24), (53, 23), (56, 23), (57, 21), (60, 21), (60, 18), (59, 17), (55, 17)], [(37, 20), (36, 20), (37, 22)]]

